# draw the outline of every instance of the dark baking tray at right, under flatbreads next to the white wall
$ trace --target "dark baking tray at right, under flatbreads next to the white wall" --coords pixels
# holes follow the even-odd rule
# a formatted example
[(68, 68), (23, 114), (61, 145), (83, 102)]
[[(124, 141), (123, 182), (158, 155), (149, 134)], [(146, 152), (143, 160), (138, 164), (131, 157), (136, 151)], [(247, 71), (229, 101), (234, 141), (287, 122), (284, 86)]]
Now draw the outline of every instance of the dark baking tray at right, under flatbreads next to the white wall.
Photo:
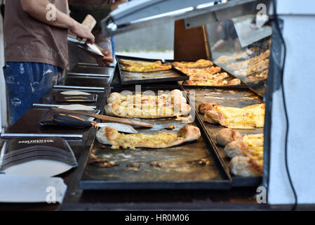
[[(230, 107), (245, 107), (247, 105), (254, 105), (262, 103), (262, 98), (257, 96), (250, 89), (188, 89), (182, 87), (185, 91), (187, 91), (187, 95), (190, 96), (194, 94), (195, 98), (195, 108), (198, 109), (200, 103), (202, 102), (215, 102), (219, 103), (223, 106)], [(189, 97), (192, 101), (192, 98)], [(224, 153), (224, 147), (217, 145), (215, 143), (215, 135), (224, 127), (217, 124), (210, 124), (205, 122), (204, 116), (197, 112), (199, 118), (201, 119), (201, 123), (203, 124), (203, 128), (208, 135), (208, 139), (213, 145), (213, 148), (217, 151), (224, 162), (224, 167), (226, 167), (229, 172), (229, 162), (230, 158)], [(235, 129), (239, 131), (242, 135), (246, 134), (263, 134), (263, 128), (257, 129)], [(250, 187), (250, 186), (259, 186), (262, 182), (262, 177), (238, 177), (232, 175), (232, 186), (235, 187)]]

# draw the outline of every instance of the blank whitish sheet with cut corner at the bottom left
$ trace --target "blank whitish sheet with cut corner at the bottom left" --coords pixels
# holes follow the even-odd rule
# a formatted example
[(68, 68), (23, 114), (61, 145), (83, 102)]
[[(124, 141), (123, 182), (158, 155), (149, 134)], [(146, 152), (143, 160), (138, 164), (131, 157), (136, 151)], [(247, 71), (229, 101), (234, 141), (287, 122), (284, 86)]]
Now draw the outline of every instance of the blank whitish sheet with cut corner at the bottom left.
[(0, 203), (62, 203), (66, 191), (60, 177), (0, 174)]

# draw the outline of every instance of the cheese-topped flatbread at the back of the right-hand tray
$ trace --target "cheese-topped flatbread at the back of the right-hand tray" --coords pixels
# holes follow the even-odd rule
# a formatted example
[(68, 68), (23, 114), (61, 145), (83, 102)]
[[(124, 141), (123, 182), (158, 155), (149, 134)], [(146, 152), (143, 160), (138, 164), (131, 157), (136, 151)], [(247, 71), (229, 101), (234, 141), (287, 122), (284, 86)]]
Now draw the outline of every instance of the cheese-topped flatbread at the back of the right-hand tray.
[(213, 103), (215, 110), (205, 112), (206, 122), (220, 124), (231, 129), (255, 129), (264, 127), (264, 104), (243, 108), (224, 107)]

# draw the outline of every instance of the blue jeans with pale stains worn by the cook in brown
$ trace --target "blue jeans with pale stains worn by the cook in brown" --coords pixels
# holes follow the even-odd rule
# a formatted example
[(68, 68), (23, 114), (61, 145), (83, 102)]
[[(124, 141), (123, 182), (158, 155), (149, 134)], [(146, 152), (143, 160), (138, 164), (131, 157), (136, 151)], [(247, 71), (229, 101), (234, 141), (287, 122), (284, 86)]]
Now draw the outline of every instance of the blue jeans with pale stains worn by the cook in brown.
[(8, 108), (13, 125), (33, 103), (58, 84), (62, 69), (45, 63), (13, 63), (4, 65)]

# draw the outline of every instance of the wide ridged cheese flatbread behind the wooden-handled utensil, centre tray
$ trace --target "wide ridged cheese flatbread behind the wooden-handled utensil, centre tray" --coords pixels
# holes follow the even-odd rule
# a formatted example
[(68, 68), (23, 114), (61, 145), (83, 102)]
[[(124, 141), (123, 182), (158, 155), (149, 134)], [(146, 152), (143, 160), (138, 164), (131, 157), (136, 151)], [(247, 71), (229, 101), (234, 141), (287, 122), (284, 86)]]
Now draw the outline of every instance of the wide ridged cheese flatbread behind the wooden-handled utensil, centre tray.
[(180, 90), (159, 96), (112, 93), (107, 98), (105, 113), (116, 117), (158, 119), (188, 115), (189, 104)]

